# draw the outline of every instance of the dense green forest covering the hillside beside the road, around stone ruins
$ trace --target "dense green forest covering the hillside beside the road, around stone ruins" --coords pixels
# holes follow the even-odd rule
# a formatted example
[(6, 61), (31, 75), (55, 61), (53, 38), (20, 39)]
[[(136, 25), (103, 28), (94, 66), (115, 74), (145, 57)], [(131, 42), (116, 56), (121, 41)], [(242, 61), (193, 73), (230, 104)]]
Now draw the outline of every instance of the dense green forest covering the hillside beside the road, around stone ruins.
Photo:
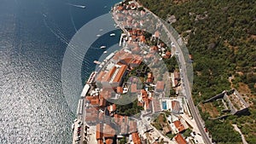
[[(248, 143), (256, 143), (256, 1), (251, 0), (139, 0), (162, 19), (175, 15), (172, 26), (194, 56), (193, 97), (195, 105), (234, 87), (247, 95), (250, 115), (232, 116), (224, 122), (208, 119), (212, 139), (218, 143), (241, 142), (231, 124), (237, 124)], [(229, 77), (233, 76), (232, 84)], [(201, 107), (200, 107), (201, 109)]]

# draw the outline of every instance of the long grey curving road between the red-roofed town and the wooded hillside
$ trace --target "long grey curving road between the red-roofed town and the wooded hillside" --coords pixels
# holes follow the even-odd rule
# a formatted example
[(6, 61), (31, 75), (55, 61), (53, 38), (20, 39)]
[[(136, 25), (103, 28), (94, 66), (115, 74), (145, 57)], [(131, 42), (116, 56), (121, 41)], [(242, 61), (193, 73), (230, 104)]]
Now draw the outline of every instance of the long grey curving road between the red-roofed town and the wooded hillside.
[[(150, 14), (153, 14), (148, 9), (146, 9), (146, 11), (148, 11)], [(210, 138), (208, 137), (207, 133), (204, 130), (204, 126), (203, 126), (204, 124), (201, 122), (200, 114), (198, 113), (198, 111), (196, 111), (194, 102), (192, 100), (191, 88), (189, 86), (189, 78), (188, 78), (188, 75), (187, 75), (187, 67), (186, 67), (186, 62), (187, 61), (185, 61), (183, 51), (180, 48), (179, 44), (177, 43), (177, 39), (175, 39), (172, 36), (172, 32), (169, 31), (169, 29), (165, 26), (165, 24), (162, 23), (162, 21), (160, 20), (160, 18), (157, 15), (153, 14), (153, 16), (154, 16), (155, 19), (158, 20), (160, 25), (163, 26), (164, 30), (166, 31), (167, 36), (169, 37), (169, 39), (171, 39), (171, 41), (174, 43), (174, 45), (176, 47), (176, 50), (178, 52), (177, 61), (179, 62), (180, 73), (183, 74), (182, 83), (183, 83), (183, 86), (184, 86), (184, 89), (185, 89), (185, 93), (186, 93), (185, 96), (186, 96), (187, 101), (188, 101), (190, 112), (192, 114), (192, 117), (195, 118), (195, 123), (197, 124), (197, 127), (201, 132), (201, 136), (203, 138), (203, 141), (207, 144), (211, 144), (212, 142), (211, 142)], [(189, 56), (189, 54), (187, 56)]]

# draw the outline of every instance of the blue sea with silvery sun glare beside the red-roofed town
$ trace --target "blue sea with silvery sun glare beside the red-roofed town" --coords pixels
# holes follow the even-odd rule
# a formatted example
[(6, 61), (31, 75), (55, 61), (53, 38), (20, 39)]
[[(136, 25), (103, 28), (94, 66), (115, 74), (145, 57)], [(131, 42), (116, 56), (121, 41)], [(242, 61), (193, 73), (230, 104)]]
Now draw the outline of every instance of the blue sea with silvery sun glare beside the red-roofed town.
[[(81, 43), (96, 37), (84, 46), (89, 48), (85, 55), (77, 51), (83, 44), (70, 42), (90, 21), (108, 14), (114, 3), (119, 0), (0, 0), (1, 144), (72, 142), (75, 107), (84, 81), (95, 70), (93, 60), (104, 57), (104, 50), (109, 54), (119, 49), (120, 31), (109, 37), (102, 26), (102, 31), (97, 30), (102, 37), (79, 37)], [(99, 49), (102, 44), (107, 49)], [(69, 76), (64, 60), (82, 61), (79, 82), (70, 80), (73, 72), (69, 72), (70, 79), (63, 79), (63, 75)]]

